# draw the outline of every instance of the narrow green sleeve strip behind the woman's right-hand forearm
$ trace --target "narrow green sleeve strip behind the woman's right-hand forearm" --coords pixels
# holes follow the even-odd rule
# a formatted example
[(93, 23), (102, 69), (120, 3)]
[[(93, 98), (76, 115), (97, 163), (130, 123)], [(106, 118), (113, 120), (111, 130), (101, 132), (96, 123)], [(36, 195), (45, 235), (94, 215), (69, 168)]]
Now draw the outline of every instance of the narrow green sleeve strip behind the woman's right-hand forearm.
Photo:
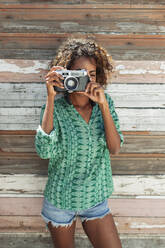
[(124, 143), (124, 136), (120, 130), (120, 122), (119, 122), (119, 118), (118, 118), (118, 115), (115, 111), (115, 106), (114, 106), (114, 102), (112, 100), (112, 98), (106, 94), (106, 98), (107, 98), (107, 101), (108, 101), (108, 104), (109, 104), (109, 109), (110, 109), (110, 112), (111, 112), (111, 115), (112, 115), (112, 118), (113, 118), (113, 121), (115, 123), (115, 126), (116, 126), (116, 130), (118, 132), (118, 134), (120, 135), (120, 147), (122, 147), (123, 143)]

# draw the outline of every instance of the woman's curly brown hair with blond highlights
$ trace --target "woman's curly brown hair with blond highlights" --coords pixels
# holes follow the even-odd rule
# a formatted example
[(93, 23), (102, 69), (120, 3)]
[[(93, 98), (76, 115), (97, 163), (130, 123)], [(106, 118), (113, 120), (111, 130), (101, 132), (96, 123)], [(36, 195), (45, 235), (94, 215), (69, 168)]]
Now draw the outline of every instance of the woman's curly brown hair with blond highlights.
[(50, 66), (58, 65), (69, 70), (75, 60), (82, 56), (95, 59), (97, 82), (106, 86), (108, 84), (107, 79), (113, 72), (113, 60), (107, 51), (93, 40), (69, 38), (61, 45)]

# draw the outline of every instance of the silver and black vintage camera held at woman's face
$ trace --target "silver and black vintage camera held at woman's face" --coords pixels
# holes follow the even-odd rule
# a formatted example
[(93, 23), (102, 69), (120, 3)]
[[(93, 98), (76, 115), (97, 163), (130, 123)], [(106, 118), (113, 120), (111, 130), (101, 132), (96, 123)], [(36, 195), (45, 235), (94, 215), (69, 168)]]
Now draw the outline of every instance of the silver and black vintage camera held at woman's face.
[(56, 70), (57, 73), (63, 76), (62, 80), (64, 89), (54, 86), (57, 92), (69, 93), (73, 91), (85, 91), (86, 85), (90, 82), (88, 73), (86, 70)]

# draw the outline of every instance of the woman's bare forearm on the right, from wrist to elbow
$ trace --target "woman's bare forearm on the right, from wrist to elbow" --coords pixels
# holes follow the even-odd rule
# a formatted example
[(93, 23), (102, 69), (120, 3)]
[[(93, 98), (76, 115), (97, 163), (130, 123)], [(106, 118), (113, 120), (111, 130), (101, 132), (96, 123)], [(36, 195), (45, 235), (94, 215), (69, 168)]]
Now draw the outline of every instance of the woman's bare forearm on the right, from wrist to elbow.
[(116, 130), (112, 115), (110, 113), (108, 102), (106, 101), (104, 104), (99, 106), (104, 120), (104, 128), (108, 149), (110, 153), (117, 154), (120, 151), (121, 140), (120, 135)]

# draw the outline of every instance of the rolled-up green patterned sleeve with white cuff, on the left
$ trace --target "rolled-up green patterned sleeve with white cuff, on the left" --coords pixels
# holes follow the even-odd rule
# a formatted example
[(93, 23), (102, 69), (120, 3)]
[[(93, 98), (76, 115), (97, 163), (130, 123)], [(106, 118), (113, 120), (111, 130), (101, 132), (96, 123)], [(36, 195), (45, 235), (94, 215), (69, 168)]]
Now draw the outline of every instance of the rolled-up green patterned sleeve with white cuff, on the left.
[[(54, 120), (54, 128), (50, 134), (44, 132), (41, 128), (42, 118), (45, 110), (45, 105), (41, 109), (40, 125), (35, 136), (35, 148), (38, 155), (43, 159), (55, 157), (59, 152), (59, 127), (58, 121)], [(54, 116), (54, 119), (56, 117)]]

